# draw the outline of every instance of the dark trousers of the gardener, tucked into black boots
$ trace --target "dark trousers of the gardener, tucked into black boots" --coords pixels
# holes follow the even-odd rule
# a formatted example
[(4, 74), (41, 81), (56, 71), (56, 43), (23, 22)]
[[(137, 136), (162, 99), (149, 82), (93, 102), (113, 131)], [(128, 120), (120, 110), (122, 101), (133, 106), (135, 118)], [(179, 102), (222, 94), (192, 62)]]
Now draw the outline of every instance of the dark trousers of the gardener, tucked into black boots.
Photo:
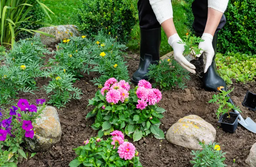
[[(154, 11), (150, 5), (149, 0), (139, 0), (138, 11), (141, 29), (150, 30), (161, 27), (161, 25), (156, 19), (156, 15), (154, 14)], [(207, 22), (208, 0), (195, 0), (192, 3), (192, 11), (195, 17), (192, 27), (195, 30), (195, 32), (202, 34), (204, 32), (205, 25)], [(225, 15), (223, 14), (215, 34), (224, 27), (225, 23), (226, 18)]]

